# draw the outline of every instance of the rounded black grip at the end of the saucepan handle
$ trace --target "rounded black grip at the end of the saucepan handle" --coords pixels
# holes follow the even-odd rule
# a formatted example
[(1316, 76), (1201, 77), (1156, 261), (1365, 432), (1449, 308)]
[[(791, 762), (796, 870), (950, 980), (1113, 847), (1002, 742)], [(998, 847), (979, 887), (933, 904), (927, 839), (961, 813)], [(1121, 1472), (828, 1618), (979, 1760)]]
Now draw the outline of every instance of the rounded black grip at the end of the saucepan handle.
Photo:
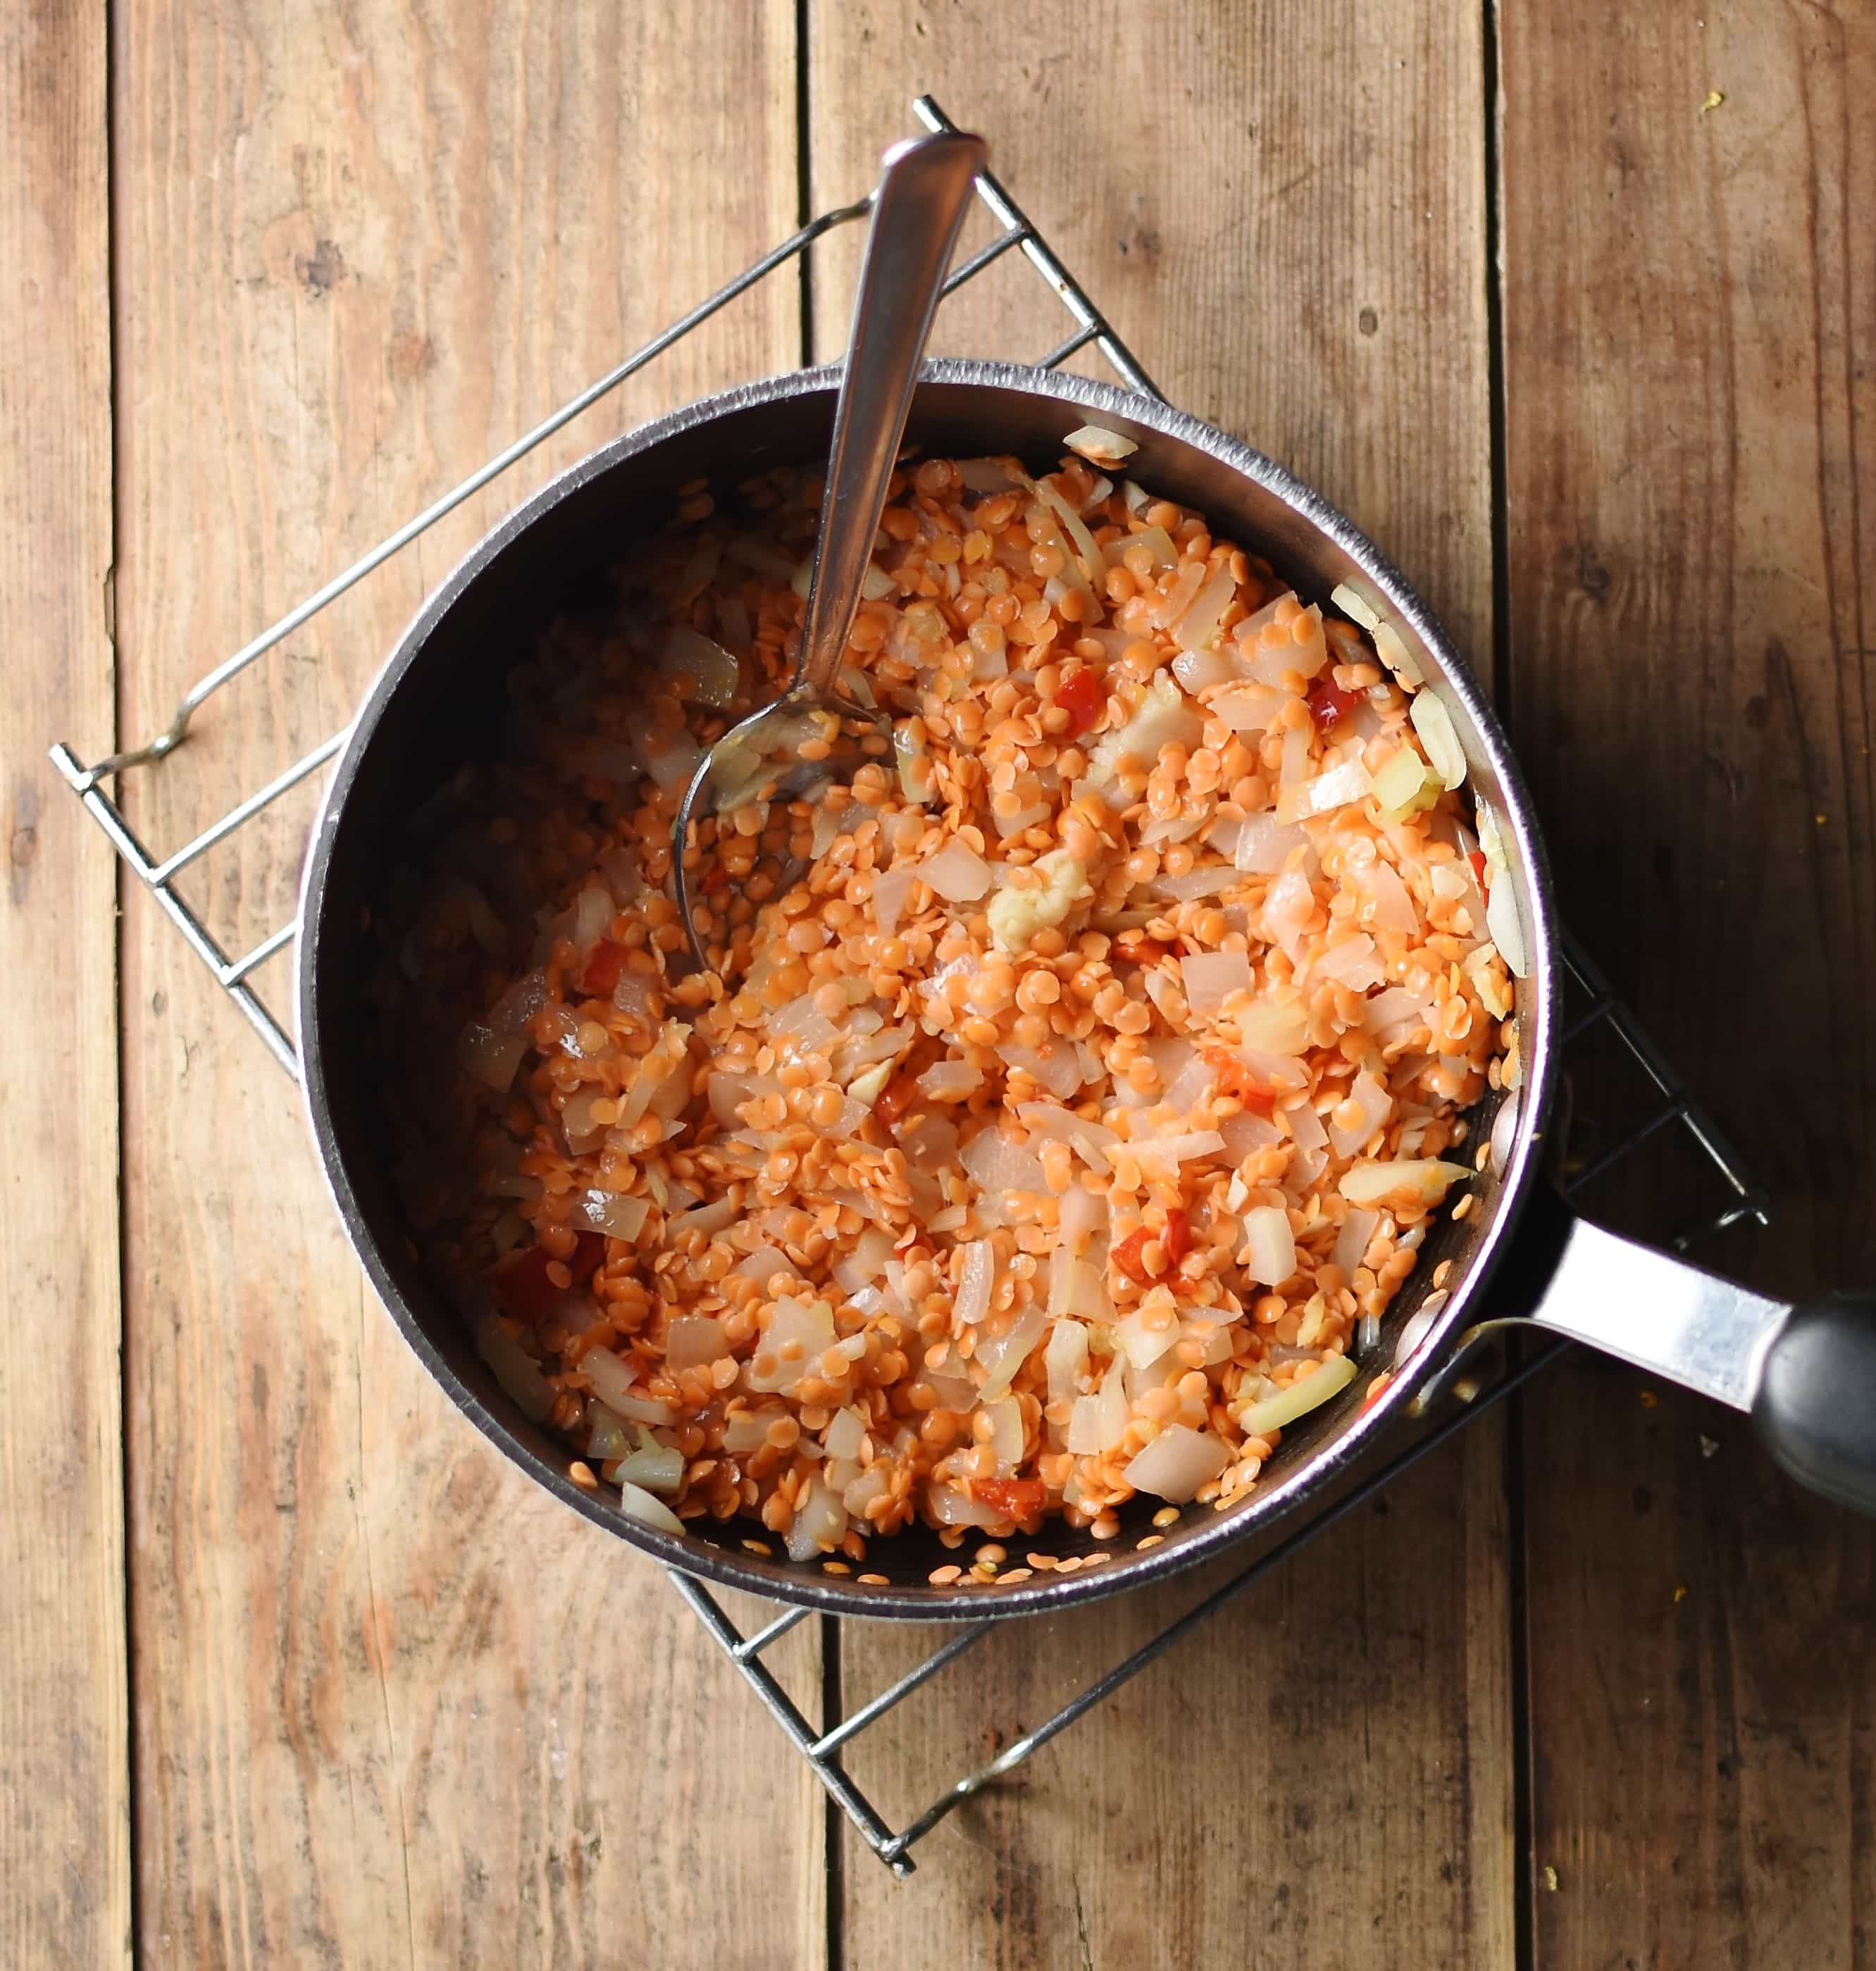
[(1791, 1309), (1762, 1354), (1752, 1425), (1799, 1484), (1876, 1514), (1876, 1297)]

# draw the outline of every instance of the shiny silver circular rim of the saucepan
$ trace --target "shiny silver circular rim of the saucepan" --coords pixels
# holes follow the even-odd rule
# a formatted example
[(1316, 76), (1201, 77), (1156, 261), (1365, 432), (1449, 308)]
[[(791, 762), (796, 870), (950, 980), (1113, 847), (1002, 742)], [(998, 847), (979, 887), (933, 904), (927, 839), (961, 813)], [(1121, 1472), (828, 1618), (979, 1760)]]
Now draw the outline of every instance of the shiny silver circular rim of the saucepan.
[[(1409, 587), (1393, 564), (1362, 534), (1338, 509), (1330, 507), (1312, 487), (1305, 485), (1285, 467), (1265, 457), (1255, 447), (1220, 432), (1216, 426), (1176, 410), (1161, 398), (1141, 396), (1115, 384), (1098, 382), (1060, 371), (1044, 371), (1015, 363), (991, 363), (979, 359), (930, 359), (920, 369), (918, 388), (932, 384), (966, 384), (973, 388), (995, 388), (1042, 396), (1074, 412), (1092, 412), (1121, 426), (1137, 424), (1165, 438), (1184, 442), (1210, 453), (1220, 463), (1238, 471), (1245, 479), (1281, 499), (1299, 518), (1326, 536), (1350, 560), (1364, 578), (1385, 597), (1387, 615), (1407, 623), (1421, 643), (1437, 656), (1446, 692), (1458, 700), (1470, 719), (1470, 737), (1490, 761), (1500, 786), (1502, 824), (1515, 844), (1515, 861), (1523, 873), (1525, 932), (1529, 936), (1529, 978), (1521, 980), (1521, 993), (1529, 995), (1527, 1017), (1521, 1017), (1521, 1056), (1523, 1082), (1519, 1090), (1519, 1118), (1513, 1133), (1509, 1157), (1506, 1159), (1498, 1210), (1480, 1230), (1470, 1248), (1466, 1277), (1440, 1307), (1433, 1328), (1417, 1348), (1409, 1368), (1393, 1378), (1387, 1388), (1368, 1405), (1364, 1413), (1320, 1447), (1314, 1455), (1297, 1464), (1295, 1470), (1259, 1484), (1245, 1500), (1230, 1512), (1220, 1512), (1200, 1531), (1182, 1539), (1169, 1539), (1153, 1547), (1143, 1557), (1129, 1557), (1125, 1567), (1082, 1567), (1072, 1575), (1037, 1575), (1015, 1587), (991, 1591), (940, 1589), (916, 1585), (893, 1585), (891, 1589), (863, 1587), (853, 1577), (810, 1573), (792, 1561), (741, 1557), (713, 1547), (705, 1541), (678, 1539), (656, 1528), (629, 1518), (617, 1506), (585, 1492), (568, 1478), (564, 1468), (556, 1468), (546, 1459), (532, 1453), (510, 1435), (506, 1423), (495, 1415), (481, 1397), (455, 1374), (437, 1346), (430, 1340), (422, 1323), (406, 1305), (390, 1269), (386, 1267), (378, 1244), (372, 1238), (359, 1196), (353, 1190), (345, 1169), (337, 1131), (333, 1127), (331, 1104), (325, 1090), (325, 1041), (315, 1017), (313, 982), (319, 964), (319, 930), (325, 903), (325, 879), (331, 850), (337, 836), (339, 816), (345, 796), (357, 779), (361, 761), (370, 747), (372, 733), (394, 696), (402, 678), (422, 656), (432, 631), (449, 613), (463, 591), (504, 548), (522, 532), (550, 514), (571, 493), (591, 479), (609, 473), (625, 459), (652, 451), (666, 440), (715, 422), (733, 412), (761, 408), (796, 396), (816, 392), (832, 394), (839, 382), (839, 365), (826, 365), (810, 371), (788, 371), (755, 382), (735, 384), (713, 396), (698, 398), (678, 410), (652, 418), (646, 424), (609, 440), (605, 445), (570, 465), (532, 493), (512, 512), (499, 520), (426, 597), (410, 625), (398, 637), (384, 664), (367, 688), (357, 714), (345, 735), (345, 745), (333, 765), (325, 784), (319, 816), (313, 824), (311, 848), (300, 889), (300, 936), (296, 950), (296, 1017), (300, 1029), (300, 1078), (307, 1098), (307, 1116), (313, 1139), (319, 1149), (319, 1163), (327, 1190), (345, 1226), (347, 1240), (370, 1277), (372, 1289), (386, 1313), (396, 1323), (404, 1340), (416, 1352), (430, 1376), (443, 1388), (455, 1407), (514, 1464), (518, 1464), (536, 1484), (552, 1492), (562, 1504), (605, 1528), (615, 1537), (627, 1539), (652, 1559), (664, 1561), (690, 1575), (702, 1575), (721, 1587), (741, 1589), (770, 1600), (786, 1600), (798, 1606), (818, 1608), (826, 1614), (867, 1616), (885, 1620), (977, 1620), (981, 1616), (1021, 1616), (1058, 1610), (1070, 1602), (1092, 1602), (1107, 1595), (1141, 1589), (1167, 1581), (1176, 1573), (1212, 1559), (1224, 1547), (1247, 1539), (1255, 1529), (1269, 1528), (1287, 1518), (1306, 1492), (1320, 1492), (1334, 1484), (1360, 1459), (1379, 1443), (1379, 1439), (1401, 1419), (1419, 1388), (1435, 1372), (1446, 1354), (1454, 1330), (1462, 1325), (1468, 1309), (1490, 1277), (1492, 1269), (1509, 1250), (1517, 1218), (1529, 1189), (1539, 1171), (1543, 1123), (1549, 1116), (1555, 1088), (1555, 1035), (1561, 1005), (1561, 964), (1559, 934), (1551, 893), (1549, 859), (1543, 838), (1531, 814), (1529, 792), (1509, 741), (1500, 731), (1498, 721), (1480, 692), (1470, 666), (1452, 646), (1440, 625), (1435, 621), (1421, 597)], [(916, 398), (914, 398), (916, 414)]]

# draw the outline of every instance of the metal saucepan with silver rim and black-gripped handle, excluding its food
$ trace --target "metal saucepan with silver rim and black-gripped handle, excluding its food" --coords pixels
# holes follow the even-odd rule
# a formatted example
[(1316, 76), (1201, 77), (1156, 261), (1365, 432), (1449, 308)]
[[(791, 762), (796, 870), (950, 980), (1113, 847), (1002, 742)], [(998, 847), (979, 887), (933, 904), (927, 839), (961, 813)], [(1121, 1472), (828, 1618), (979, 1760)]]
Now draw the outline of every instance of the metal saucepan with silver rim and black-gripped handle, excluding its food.
[[(384, 1153), (386, 1129), (361, 1037), (376, 962), (370, 913), (408, 820), (469, 759), (501, 747), (502, 680), (542, 625), (568, 611), (621, 548), (660, 526), (676, 489), (700, 477), (745, 479), (822, 459), (836, 378), (806, 371), (672, 412), (605, 445), (501, 522), (430, 597), (372, 684), (325, 796), (305, 871), (300, 932), (300, 1041), (313, 1133), (353, 1248), (392, 1319), (457, 1407), (538, 1484), (595, 1526), (660, 1561), (757, 1595), (869, 1616), (1019, 1614), (1056, 1608), (1174, 1573), (1297, 1510), (1387, 1437), (1415, 1395), (1450, 1366), (1480, 1321), (1531, 1321), (1750, 1409), (1774, 1457), (1801, 1482), (1876, 1512), (1876, 1307), (1799, 1307), (1764, 1299), (1573, 1218), (1545, 1173), (1557, 1096), (1561, 960), (1551, 879), (1531, 802), (1472, 672), (1425, 605), (1332, 507), (1236, 438), (1149, 398), (1080, 376), (999, 363), (930, 363), (906, 442), (926, 451), (1017, 453), (1037, 471), (1062, 438), (1098, 422), (1131, 438), (1129, 473), (1200, 510), (1218, 534), (1265, 554), (1297, 587), (1326, 599), (1338, 583), (1385, 615), (1452, 714), (1468, 782), (1502, 816), (1529, 976), (1517, 989), (1523, 1058), (1519, 1112), (1506, 1153), (1474, 1187), (1462, 1222), (1429, 1230), (1421, 1265), (1389, 1309), (1370, 1374), (1395, 1354), (1403, 1323), (1450, 1259), (1446, 1301), (1405, 1370), (1362, 1407), (1362, 1374), (1283, 1433), (1259, 1484), (1228, 1512), (1186, 1508), (1161, 1545), (1137, 1551), (1133, 1522), (1100, 1551), (1109, 1565), (1038, 1573), (1007, 1589), (940, 1589), (950, 1559), (936, 1533), (908, 1528), (869, 1545), (885, 1585), (743, 1549), (749, 1528), (694, 1522), (678, 1539), (625, 1518), (568, 1476), (564, 1443), (526, 1423), (501, 1393), (459, 1317), (430, 1287), (408, 1240)], [(1500, 1131), (1504, 1137), (1504, 1129)], [(1155, 1500), (1137, 1502), (1145, 1516)], [(1056, 1555), (1096, 1543), (1062, 1524), (1037, 1541)]]

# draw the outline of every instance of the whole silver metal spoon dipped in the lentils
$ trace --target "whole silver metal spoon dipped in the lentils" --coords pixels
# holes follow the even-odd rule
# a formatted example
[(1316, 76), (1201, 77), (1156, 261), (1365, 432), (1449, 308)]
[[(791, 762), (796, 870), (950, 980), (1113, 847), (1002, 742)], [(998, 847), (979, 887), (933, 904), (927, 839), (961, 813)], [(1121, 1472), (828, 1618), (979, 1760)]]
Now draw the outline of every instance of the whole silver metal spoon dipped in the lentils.
[[(814, 784), (851, 781), (869, 759), (893, 759), (893, 719), (855, 704), (834, 680), (859, 609), (859, 585), (873, 558), (952, 246), (985, 156), (983, 138), (962, 130), (912, 138), (885, 154), (834, 406), (828, 491), (794, 682), (709, 749), (672, 828), (678, 911), (700, 966), (707, 968), (709, 956), (692, 917), (694, 871), (684, 857), (692, 824), (753, 800), (786, 800)], [(800, 865), (788, 879), (798, 873)]]

